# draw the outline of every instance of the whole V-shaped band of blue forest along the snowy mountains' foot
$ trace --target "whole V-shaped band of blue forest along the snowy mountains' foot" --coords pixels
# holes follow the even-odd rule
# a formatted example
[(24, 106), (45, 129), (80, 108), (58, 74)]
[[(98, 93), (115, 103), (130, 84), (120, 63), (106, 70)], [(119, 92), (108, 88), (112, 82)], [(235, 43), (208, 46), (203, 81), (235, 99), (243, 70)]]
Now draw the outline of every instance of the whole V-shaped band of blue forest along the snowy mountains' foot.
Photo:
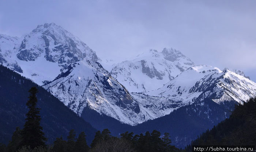
[(162, 135), (168, 132), (172, 144), (178, 148), (184, 148), (192, 140), (195, 140), (197, 135), (228, 118), (235, 104), (237, 104), (236, 101), (225, 101), (217, 104), (211, 99), (195, 101), (192, 104), (175, 109), (163, 117), (148, 120), (135, 126), (122, 124), (106, 115), (99, 115), (99, 113), (87, 107), (81, 117), (99, 130), (108, 128), (114, 136), (119, 136), (120, 133), (126, 131), (140, 134), (156, 129)]

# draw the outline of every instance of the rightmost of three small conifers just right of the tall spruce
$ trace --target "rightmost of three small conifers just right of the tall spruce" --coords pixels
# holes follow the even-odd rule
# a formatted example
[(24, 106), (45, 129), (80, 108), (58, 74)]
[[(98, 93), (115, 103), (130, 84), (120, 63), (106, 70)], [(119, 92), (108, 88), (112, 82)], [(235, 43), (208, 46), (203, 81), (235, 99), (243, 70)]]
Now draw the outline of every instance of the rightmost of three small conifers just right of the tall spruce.
[(76, 140), (75, 152), (87, 152), (89, 151), (89, 146), (87, 145), (86, 135), (84, 132), (81, 132)]

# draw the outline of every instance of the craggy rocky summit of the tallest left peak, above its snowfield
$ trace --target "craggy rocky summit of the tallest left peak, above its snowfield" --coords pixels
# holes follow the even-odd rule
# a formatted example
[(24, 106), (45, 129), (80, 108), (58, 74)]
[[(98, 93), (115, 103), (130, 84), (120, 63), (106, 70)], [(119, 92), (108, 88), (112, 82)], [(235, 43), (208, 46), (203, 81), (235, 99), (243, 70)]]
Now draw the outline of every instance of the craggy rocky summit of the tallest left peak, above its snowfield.
[(67, 67), (84, 58), (98, 60), (96, 53), (85, 43), (54, 23), (38, 25), (26, 35), (17, 57), (23, 61), (35, 61), (41, 55), (61, 67)]

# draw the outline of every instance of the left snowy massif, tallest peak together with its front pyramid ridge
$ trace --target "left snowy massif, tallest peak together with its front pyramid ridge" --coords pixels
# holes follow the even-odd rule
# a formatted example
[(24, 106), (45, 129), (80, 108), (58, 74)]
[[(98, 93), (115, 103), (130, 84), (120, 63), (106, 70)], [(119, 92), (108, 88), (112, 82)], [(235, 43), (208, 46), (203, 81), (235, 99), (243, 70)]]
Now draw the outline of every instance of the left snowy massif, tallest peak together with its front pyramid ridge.
[(178, 107), (169, 99), (166, 107), (158, 105), (163, 101), (155, 108), (143, 107), (102, 67), (92, 49), (54, 23), (38, 25), (23, 38), (1, 35), (0, 41), (1, 64), (43, 85), (78, 115), (89, 106), (135, 125), (165, 115), (152, 112), (159, 106), (168, 111)]

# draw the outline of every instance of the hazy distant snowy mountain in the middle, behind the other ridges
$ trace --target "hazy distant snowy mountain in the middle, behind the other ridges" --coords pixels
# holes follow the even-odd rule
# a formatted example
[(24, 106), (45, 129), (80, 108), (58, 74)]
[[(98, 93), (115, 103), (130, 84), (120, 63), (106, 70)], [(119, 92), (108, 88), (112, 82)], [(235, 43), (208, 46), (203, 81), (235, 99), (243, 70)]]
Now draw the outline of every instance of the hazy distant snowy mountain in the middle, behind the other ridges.
[(111, 71), (129, 92), (158, 89), (194, 63), (176, 49), (150, 50), (134, 60), (118, 63)]

